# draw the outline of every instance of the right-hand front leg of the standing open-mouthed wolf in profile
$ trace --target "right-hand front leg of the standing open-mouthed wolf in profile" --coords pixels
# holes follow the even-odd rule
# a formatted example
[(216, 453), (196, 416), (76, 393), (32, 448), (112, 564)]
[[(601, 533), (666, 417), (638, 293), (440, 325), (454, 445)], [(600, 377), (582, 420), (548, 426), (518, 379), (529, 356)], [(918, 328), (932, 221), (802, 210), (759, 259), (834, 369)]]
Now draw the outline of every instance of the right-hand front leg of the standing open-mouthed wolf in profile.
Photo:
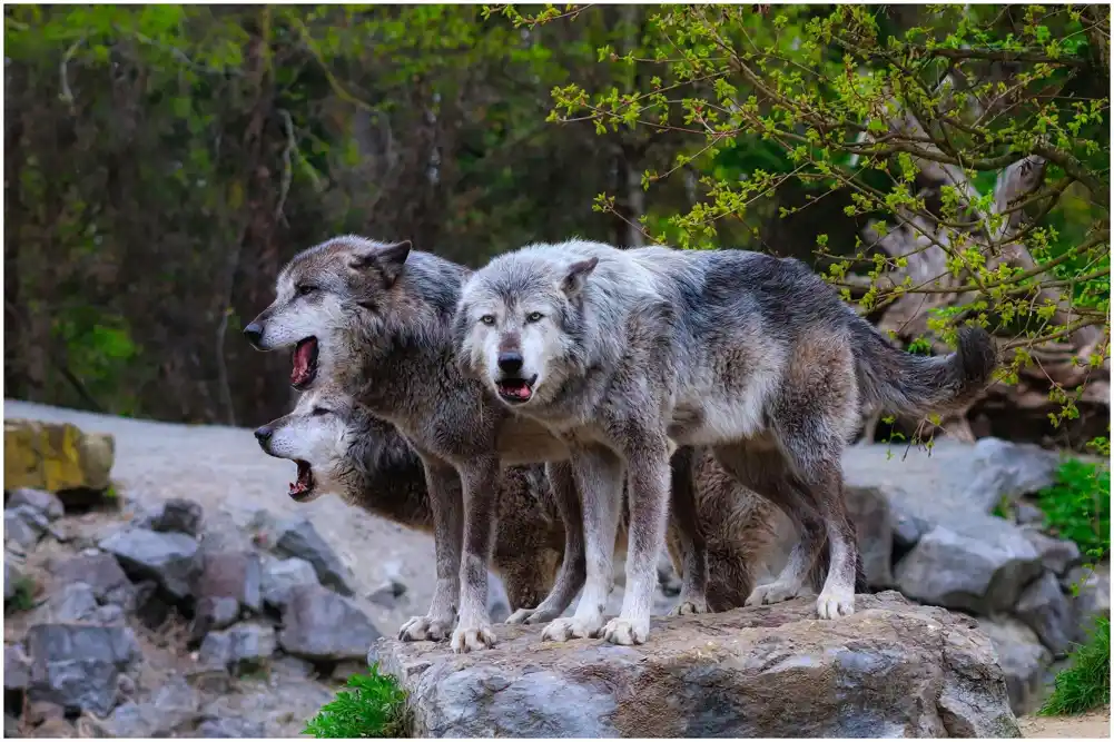
[(487, 576), (497, 525), (497, 456), (477, 457), (459, 468), (465, 495), (465, 550), (460, 560), (460, 622), (452, 651), (461, 654), (495, 646), (487, 611)]

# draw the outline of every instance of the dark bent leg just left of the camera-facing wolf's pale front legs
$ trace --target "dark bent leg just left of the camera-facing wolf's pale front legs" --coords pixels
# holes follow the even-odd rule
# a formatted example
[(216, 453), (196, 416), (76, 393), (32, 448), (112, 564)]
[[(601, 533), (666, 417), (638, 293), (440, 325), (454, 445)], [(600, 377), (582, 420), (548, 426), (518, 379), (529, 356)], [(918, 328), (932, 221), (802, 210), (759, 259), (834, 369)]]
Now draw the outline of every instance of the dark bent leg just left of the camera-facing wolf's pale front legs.
[(576, 491), (573, 465), (568, 461), (546, 465), (546, 477), (553, 492), (557, 512), (565, 524), (565, 553), (553, 589), (537, 608), (519, 608), (508, 624), (544, 624), (565, 613), (584, 587), (584, 521), (580, 516), (580, 496)]

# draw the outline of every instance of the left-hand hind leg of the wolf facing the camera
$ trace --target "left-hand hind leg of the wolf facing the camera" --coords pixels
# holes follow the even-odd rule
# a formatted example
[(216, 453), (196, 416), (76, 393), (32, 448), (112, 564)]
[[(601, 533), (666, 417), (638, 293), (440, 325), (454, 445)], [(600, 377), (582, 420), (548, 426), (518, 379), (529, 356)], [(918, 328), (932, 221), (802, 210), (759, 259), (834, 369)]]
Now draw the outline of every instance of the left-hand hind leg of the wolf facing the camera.
[(745, 605), (789, 601), (805, 594), (824, 529), (815, 508), (791, 481), (789, 462), (776, 448), (762, 442), (736, 442), (717, 446), (715, 458), (743, 487), (780, 508), (793, 523), (798, 540), (789, 559), (772, 583), (755, 586)]

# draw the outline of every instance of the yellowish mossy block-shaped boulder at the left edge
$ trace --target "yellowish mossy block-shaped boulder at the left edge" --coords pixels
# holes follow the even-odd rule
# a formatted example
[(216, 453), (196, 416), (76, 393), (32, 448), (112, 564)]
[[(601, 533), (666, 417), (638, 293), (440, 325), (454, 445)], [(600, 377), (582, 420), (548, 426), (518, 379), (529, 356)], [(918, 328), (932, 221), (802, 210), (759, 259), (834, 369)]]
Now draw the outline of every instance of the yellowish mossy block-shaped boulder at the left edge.
[(3, 421), (3, 487), (59, 492), (104, 490), (116, 442), (107, 433), (82, 432), (66, 422)]

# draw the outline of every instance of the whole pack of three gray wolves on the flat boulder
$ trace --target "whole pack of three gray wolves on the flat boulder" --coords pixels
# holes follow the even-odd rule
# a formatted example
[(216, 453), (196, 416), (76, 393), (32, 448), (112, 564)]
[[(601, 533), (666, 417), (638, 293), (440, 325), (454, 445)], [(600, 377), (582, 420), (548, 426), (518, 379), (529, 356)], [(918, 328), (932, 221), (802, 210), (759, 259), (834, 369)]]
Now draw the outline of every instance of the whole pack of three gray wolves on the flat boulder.
[[(809, 595), (821, 619), (852, 614), (841, 457), (863, 414), (961, 409), (997, 365), (977, 326), (948, 355), (907, 353), (804, 263), (743, 250), (571, 240), (470, 270), (345, 235), (275, 291), (244, 333), (292, 353), (302, 393), (260, 446), (296, 465), (294, 500), (335, 494), (432, 533), (431, 605), (399, 637), (458, 653), (496, 643), (489, 569), (507, 623), (543, 641), (646, 642), (663, 547), (671, 615)], [(759, 584), (776, 510), (797, 540)]]

